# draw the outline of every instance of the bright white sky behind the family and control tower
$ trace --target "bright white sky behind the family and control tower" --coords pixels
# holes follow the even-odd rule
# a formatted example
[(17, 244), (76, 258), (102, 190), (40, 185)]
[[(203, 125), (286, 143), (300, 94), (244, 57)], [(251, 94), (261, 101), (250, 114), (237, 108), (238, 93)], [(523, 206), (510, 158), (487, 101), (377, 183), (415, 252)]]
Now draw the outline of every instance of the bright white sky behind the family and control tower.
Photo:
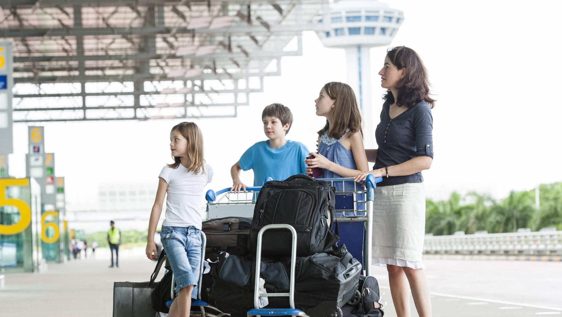
[[(497, 198), (538, 183), (562, 181), (559, 101), (562, 84), (562, 1), (387, 0), (404, 10), (392, 46), (422, 56), (437, 99), (434, 161), (424, 171), (427, 196), (488, 192)], [(380, 111), (378, 70), (386, 48), (371, 49), (373, 106)], [(212, 189), (232, 184), (229, 168), (265, 139), (261, 111), (273, 102), (291, 108), (288, 139), (313, 148), (324, 124), (314, 99), (328, 81), (346, 81), (343, 49), (303, 36), (303, 56), (284, 57), (282, 76), (265, 79), (264, 92), (239, 107), (235, 119), (196, 120), (205, 135)], [(182, 120), (49, 123), (46, 150), (56, 153), (56, 174), (66, 177), (67, 210), (91, 209), (100, 182), (151, 182), (171, 162), (170, 128)], [(375, 123), (376, 125), (377, 123)], [(25, 176), (27, 128), (14, 125), (11, 174)], [(251, 171), (242, 180), (251, 184)], [(151, 206), (147, 206), (147, 211)]]

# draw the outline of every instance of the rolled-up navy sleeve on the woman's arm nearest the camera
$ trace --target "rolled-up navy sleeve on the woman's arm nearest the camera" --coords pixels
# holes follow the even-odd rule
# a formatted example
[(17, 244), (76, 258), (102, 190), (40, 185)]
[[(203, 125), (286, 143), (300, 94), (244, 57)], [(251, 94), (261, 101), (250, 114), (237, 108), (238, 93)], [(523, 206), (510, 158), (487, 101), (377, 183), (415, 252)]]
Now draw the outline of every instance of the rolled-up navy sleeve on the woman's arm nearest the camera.
[(433, 158), (433, 116), (429, 105), (420, 102), (416, 106), (413, 119), (416, 133), (416, 156)]

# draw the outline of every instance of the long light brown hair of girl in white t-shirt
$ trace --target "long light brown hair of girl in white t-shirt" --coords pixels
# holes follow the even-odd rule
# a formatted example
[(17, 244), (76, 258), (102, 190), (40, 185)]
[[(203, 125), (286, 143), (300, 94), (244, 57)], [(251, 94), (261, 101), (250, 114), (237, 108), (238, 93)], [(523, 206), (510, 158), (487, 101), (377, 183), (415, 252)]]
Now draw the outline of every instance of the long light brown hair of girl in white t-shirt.
[[(172, 128), (172, 131), (177, 130), (182, 136), (187, 139), (187, 158), (188, 171), (193, 171), (196, 174), (205, 173), (205, 159), (203, 159), (203, 133), (193, 122), (182, 122)], [(173, 164), (168, 164), (168, 167), (173, 169), (178, 168), (180, 164), (179, 156), (172, 156), (174, 159)]]

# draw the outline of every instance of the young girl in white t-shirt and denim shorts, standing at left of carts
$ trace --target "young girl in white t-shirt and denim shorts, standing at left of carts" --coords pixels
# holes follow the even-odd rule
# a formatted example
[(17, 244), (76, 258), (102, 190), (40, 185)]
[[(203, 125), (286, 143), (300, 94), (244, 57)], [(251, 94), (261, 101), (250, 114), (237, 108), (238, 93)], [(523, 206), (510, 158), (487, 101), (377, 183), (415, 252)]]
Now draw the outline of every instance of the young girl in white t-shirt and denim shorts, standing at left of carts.
[(176, 279), (176, 297), (168, 316), (188, 317), (191, 298), (197, 299), (201, 268), (201, 209), (203, 191), (213, 170), (203, 160), (203, 135), (192, 122), (180, 123), (170, 133), (173, 164), (164, 166), (158, 180), (156, 201), (148, 223), (146, 256), (156, 260), (154, 233), (166, 198), (166, 219), (160, 233), (162, 246)]

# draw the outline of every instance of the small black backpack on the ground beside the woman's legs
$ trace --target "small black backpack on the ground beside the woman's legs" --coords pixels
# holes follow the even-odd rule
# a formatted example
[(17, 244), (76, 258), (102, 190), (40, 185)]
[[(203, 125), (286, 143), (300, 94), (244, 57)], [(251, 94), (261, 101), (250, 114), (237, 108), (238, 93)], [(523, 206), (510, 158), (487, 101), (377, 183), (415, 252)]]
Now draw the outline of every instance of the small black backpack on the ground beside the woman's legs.
[[(343, 317), (382, 317), (384, 301), (380, 300), (379, 283), (374, 277), (360, 277), (356, 297), (342, 307)], [(383, 303), (383, 304), (381, 304)]]

